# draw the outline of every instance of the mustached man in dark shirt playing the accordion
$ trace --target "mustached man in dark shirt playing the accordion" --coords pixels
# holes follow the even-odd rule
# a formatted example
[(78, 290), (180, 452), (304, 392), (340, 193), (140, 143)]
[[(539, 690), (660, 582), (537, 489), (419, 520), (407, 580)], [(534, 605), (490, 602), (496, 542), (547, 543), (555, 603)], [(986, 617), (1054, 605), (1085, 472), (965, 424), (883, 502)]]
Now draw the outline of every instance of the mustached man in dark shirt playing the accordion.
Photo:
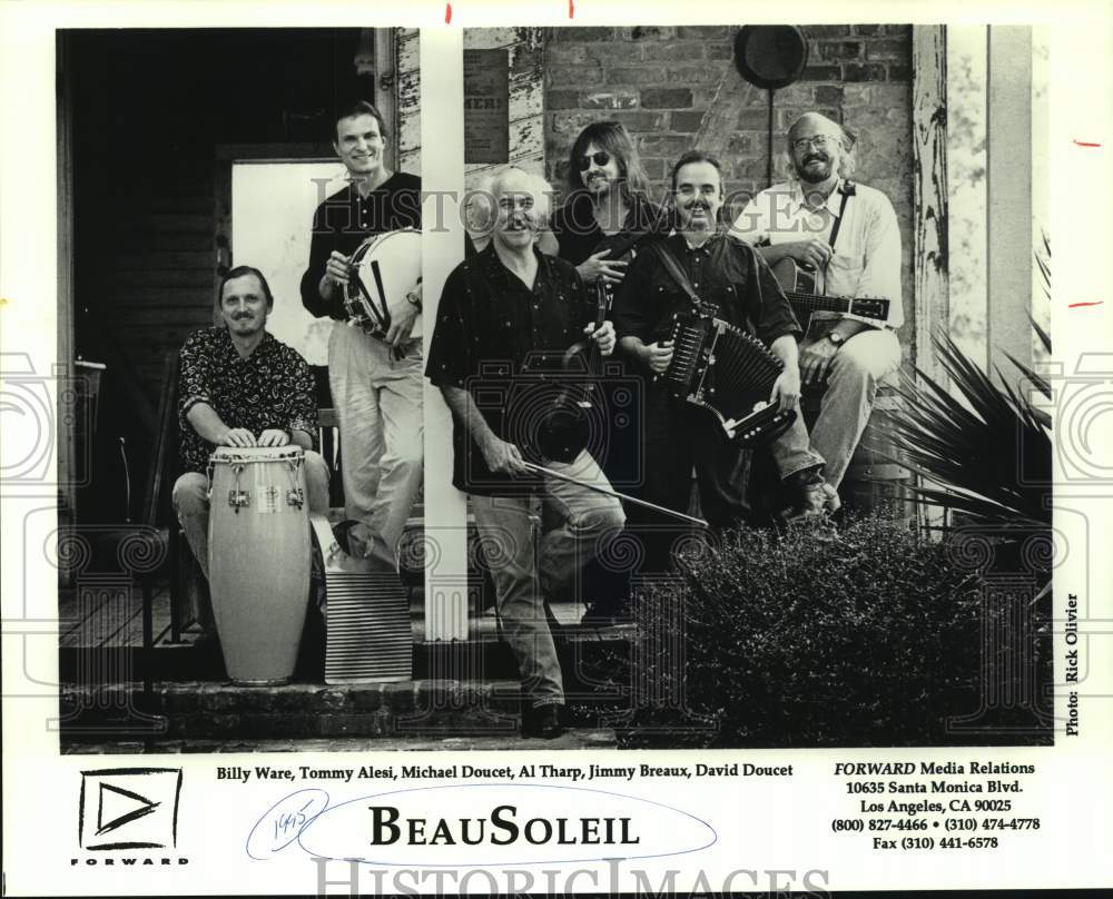
[[(748, 456), (735, 437), (737, 427), (749, 427), (749, 409), (743, 415), (722, 408), (741, 392), (749, 365), (761, 385), (754, 399), (759, 406), (768, 403), (757, 417), (768, 419), (762, 427), (769, 428), (770, 451), (790, 497), (779, 514), (785, 520), (821, 515), (829, 495), (824, 460), (809, 448), (807, 429), (795, 414), (800, 395), (796, 316), (757, 253), (719, 229), (723, 180), (713, 157), (684, 154), (672, 169), (672, 195), (678, 231), (634, 260), (614, 303), (619, 346), (650, 381), (644, 498), (686, 510), (695, 465), (703, 516), (712, 526), (748, 517), (742, 471)], [(693, 344), (709, 326), (719, 329), (716, 358)], [(692, 359), (679, 366), (678, 375), (686, 353)], [(709, 362), (725, 374), (738, 367), (741, 381), (727, 383), (720, 375), (718, 385), (697, 384)], [(682, 383), (688, 375), (691, 383)]]

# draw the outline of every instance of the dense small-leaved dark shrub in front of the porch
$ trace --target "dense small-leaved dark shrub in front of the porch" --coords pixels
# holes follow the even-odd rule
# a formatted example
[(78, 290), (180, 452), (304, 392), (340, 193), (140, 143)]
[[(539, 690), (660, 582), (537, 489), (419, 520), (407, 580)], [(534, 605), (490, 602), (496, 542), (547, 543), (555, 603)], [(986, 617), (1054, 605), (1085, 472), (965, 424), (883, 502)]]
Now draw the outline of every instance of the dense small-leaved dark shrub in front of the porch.
[[(628, 744), (972, 742), (946, 722), (978, 711), (982, 634), (995, 626), (983, 619), (1006, 612), (985, 611), (981, 575), (956, 567), (946, 545), (863, 517), (837, 534), (727, 532), (680, 565), (679, 581), (642, 597), (636, 676), (656, 682), (647, 694), (658, 698), (682, 684), (687, 709), (634, 703)], [(678, 622), (687, 634), (672, 646), (644, 639)]]

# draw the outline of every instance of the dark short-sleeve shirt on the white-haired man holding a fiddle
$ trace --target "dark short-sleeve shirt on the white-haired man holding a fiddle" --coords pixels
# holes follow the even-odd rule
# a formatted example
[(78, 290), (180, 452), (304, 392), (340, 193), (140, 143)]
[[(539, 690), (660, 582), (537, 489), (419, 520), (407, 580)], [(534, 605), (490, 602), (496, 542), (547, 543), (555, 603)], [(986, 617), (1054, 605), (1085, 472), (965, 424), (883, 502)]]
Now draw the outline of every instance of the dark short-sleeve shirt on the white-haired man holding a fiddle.
[[(583, 338), (595, 306), (569, 263), (533, 253), (532, 290), (502, 264), (493, 241), (453, 269), (441, 294), (425, 374), (439, 387), (467, 391), (491, 429), (536, 461), (539, 413), (569, 377), (561, 368), (564, 352)], [(452, 438), (457, 490), (500, 494), (535, 486), (492, 473), (455, 416)]]

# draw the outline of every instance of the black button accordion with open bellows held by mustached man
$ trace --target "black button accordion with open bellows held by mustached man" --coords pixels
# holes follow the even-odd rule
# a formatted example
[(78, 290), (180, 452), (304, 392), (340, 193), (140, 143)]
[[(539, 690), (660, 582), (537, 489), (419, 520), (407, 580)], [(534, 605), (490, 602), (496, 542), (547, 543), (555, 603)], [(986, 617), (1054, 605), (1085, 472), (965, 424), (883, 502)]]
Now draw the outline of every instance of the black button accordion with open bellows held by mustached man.
[(713, 415), (728, 438), (743, 446), (768, 443), (796, 419), (792, 409), (769, 404), (785, 364), (757, 337), (711, 315), (678, 313), (671, 339), (666, 388)]

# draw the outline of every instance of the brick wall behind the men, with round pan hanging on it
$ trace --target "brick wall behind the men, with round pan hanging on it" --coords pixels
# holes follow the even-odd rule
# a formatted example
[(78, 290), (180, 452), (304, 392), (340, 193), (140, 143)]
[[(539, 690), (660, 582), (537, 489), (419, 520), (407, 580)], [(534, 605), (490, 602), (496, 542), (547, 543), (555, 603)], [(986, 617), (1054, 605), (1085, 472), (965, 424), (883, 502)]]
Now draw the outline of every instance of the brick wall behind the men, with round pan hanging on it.
[[(735, 26), (559, 28), (546, 31), (545, 158), (562, 190), (579, 131), (617, 119), (633, 135), (663, 197), (672, 161), (696, 144), (709, 112), (733, 92), (745, 97), (725, 149), (728, 191), (766, 186), (767, 92), (735, 72)], [(893, 201), (904, 240), (905, 308), (912, 317), (912, 27), (804, 26), (808, 67), (775, 98), (774, 148), (788, 125), (819, 110), (858, 136), (858, 179)], [(722, 86), (719, 101), (716, 95)], [(738, 95), (737, 91), (742, 91)]]

